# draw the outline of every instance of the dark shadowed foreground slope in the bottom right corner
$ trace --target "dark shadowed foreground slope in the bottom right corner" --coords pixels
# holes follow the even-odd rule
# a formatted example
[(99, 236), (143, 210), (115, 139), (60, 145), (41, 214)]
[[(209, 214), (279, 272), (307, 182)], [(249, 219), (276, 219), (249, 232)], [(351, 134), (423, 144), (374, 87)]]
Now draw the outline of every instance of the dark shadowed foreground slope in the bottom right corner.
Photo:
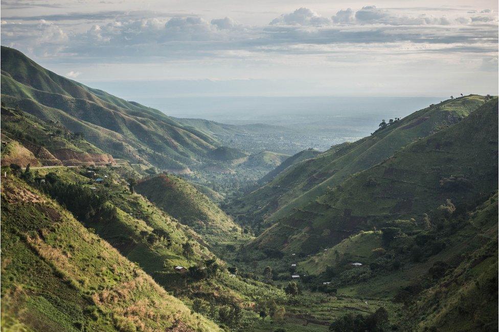
[[(410, 308), (417, 331), (497, 329), (497, 194), (474, 212), (470, 223), (473, 230), (463, 232), (461, 246), (456, 241), (452, 248), (465, 259), (421, 292)], [(465, 250), (459, 248), (463, 242)]]

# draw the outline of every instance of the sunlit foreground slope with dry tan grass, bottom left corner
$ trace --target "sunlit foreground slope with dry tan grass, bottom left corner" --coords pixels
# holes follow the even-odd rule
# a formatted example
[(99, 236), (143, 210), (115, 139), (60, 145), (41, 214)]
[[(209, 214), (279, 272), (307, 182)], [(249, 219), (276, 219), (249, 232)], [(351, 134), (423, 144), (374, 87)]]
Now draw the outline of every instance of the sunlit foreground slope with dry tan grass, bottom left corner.
[(50, 198), (2, 178), (2, 330), (216, 331)]

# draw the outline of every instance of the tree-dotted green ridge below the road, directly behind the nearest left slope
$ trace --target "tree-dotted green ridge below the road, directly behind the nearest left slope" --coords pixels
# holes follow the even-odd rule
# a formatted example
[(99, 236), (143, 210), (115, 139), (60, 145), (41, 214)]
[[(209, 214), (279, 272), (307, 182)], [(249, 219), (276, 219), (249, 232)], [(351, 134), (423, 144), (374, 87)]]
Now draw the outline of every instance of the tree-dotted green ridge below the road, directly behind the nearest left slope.
[[(94, 177), (105, 179), (100, 184), (86, 178), (87, 169), (36, 169), (33, 171), (34, 178), (46, 181), (35, 181), (35, 185), (56, 198), (85, 227), (106, 240), (195, 312), (222, 326), (251, 326), (258, 320), (258, 315), (249, 306), (250, 303), (261, 298), (275, 298), (281, 302), (285, 299), (280, 289), (254, 279), (231, 276), (226, 263), (206, 248), (210, 234), (196, 233), (156, 208), (144, 196), (130, 192), (126, 180), (117, 174), (119, 167), (90, 168), (96, 172)], [(187, 185), (184, 181), (180, 184)], [(194, 190), (190, 185), (188, 188)], [(202, 196), (198, 192), (195, 195)], [(178, 204), (190, 206), (189, 200), (193, 198), (184, 197), (185, 201)], [(234, 248), (233, 234), (219, 235), (220, 242), (216, 243), (215, 249), (223, 253), (229, 247)], [(240, 233), (237, 234), (242, 238)], [(174, 269), (176, 266), (182, 266), (186, 271), (179, 273)], [(196, 299), (202, 300), (204, 306), (196, 307)], [(226, 308), (239, 311), (234, 320), (219, 315), (219, 311)]]

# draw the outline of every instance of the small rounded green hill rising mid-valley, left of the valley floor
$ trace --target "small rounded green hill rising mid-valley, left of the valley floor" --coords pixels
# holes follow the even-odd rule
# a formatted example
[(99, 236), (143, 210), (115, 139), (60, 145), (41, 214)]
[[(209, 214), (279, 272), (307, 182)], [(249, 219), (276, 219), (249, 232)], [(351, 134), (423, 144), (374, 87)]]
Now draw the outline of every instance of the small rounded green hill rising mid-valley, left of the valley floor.
[(187, 181), (160, 174), (140, 181), (137, 191), (149, 201), (202, 234), (210, 245), (220, 246), (241, 238), (241, 228), (209, 198)]

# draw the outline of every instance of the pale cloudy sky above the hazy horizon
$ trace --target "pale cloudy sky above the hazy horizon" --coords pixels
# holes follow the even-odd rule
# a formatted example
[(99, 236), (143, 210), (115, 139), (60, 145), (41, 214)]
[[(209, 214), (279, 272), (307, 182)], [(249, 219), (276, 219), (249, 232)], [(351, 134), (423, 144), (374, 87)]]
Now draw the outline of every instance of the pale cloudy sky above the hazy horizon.
[(125, 98), (497, 94), (496, 0), (371, 1), (2, 0), (0, 37)]

